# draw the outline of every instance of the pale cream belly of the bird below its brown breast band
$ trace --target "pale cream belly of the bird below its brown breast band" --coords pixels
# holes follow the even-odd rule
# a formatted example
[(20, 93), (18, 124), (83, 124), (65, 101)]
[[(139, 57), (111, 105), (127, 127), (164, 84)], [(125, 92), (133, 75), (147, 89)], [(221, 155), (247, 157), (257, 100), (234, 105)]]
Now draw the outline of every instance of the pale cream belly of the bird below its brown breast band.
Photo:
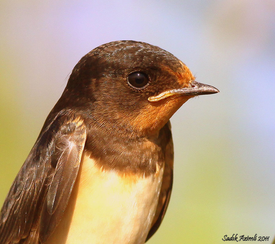
[(123, 177), (102, 171), (84, 154), (69, 205), (46, 243), (144, 243), (163, 169), (147, 177)]

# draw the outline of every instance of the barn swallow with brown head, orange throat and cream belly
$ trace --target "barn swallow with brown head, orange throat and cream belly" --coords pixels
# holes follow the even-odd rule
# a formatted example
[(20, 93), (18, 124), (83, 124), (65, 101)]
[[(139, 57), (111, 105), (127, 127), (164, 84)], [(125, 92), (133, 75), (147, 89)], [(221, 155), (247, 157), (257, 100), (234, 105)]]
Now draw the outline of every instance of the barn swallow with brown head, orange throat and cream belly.
[(0, 213), (0, 243), (145, 243), (173, 178), (169, 119), (219, 92), (183, 62), (136, 41), (76, 64)]

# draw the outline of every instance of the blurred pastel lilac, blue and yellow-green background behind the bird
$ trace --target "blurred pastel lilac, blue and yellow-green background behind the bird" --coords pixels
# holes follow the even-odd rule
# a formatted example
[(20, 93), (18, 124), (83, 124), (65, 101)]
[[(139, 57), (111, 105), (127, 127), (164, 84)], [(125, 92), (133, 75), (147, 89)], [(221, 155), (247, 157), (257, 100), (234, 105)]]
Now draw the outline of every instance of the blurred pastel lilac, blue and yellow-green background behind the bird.
[(114, 40), (159, 46), (220, 93), (171, 119), (174, 186), (154, 243), (275, 236), (275, 2), (0, 3), (0, 205), (73, 67)]

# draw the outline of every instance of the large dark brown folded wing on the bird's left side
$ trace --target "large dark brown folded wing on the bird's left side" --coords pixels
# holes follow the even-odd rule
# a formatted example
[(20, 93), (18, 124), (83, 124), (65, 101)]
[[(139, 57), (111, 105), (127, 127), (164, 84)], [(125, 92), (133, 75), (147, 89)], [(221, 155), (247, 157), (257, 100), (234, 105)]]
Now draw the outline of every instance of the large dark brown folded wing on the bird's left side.
[(82, 119), (58, 113), (40, 133), (0, 212), (0, 243), (40, 243), (68, 204), (86, 141)]

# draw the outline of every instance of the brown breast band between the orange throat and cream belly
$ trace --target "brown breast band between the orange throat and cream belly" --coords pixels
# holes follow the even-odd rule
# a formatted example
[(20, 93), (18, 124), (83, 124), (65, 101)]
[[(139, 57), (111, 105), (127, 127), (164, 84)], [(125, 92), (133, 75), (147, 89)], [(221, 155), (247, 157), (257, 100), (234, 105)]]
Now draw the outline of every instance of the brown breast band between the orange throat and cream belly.
[(164, 162), (162, 144), (165, 141), (160, 134), (139, 136), (116, 126), (90, 123), (84, 149), (103, 170), (148, 176)]

